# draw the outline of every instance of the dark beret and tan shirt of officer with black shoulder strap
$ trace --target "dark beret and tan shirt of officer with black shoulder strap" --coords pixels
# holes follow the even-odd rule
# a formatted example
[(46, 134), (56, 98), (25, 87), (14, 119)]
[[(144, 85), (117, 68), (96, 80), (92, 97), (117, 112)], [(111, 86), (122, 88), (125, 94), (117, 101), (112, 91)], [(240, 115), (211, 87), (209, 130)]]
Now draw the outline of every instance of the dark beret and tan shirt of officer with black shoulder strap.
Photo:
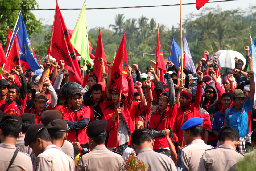
[[(14, 114), (7, 114), (5, 115), (1, 121), (0, 125), (2, 127), (2, 124), (6, 120), (16, 120), (19, 121), (22, 124), (22, 119)], [(14, 152), (16, 150), (15, 145), (10, 145), (10, 144), (5, 144), (1, 143), (0, 144), (0, 170), (6, 170), (10, 164), (11, 159), (14, 157)], [(28, 154), (17, 151), (17, 156), (14, 158), (13, 163), (10, 165), (11, 170), (27, 170), (27, 171), (32, 171), (32, 162), (31, 158)]]

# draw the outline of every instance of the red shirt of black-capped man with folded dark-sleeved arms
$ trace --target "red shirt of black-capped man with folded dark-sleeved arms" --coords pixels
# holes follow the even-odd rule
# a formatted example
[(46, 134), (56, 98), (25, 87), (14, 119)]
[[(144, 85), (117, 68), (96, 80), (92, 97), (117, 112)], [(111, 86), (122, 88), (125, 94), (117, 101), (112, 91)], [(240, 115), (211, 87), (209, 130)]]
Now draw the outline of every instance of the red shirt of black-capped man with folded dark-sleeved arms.
[[(75, 119), (76, 118), (76, 119)], [(80, 105), (80, 108), (76, 111), (76, 114), (74, 113), (74, 110), (72, 107), (64, 109), (63, 113), (63, 120), (68, 121), (81, 121), (82, 119), (88, 119), (91, 118), (91, 110), (89, 106), (82, 106)], [(71, 142), (76, 142), (76, 137), (78, 137), (78, 142), (80, 145), (85, 145), (88, 142), (88, 136), (86, 134), (86, 130), (83, 128), (78, 129), (78, 134), (76, 130), (71, 130), (68, 132), (67, 140), (70, 140)]]

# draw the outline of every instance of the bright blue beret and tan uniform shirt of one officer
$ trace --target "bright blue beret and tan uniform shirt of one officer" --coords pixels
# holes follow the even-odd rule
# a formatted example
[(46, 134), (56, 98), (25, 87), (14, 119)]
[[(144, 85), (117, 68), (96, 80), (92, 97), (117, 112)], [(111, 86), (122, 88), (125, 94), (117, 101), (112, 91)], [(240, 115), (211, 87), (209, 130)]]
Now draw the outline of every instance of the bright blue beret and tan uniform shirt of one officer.
[[(202, 127), (203, 120), (203, 118), (191, 118), (182, 125), (181, 129), (188, 130), (197, 126)], [(197, 171), (202, 154), (205, 150), (211, 148), (201, 139), (191, 141), (189, 145), (184, 146), (178, 151), (177, 170)]]

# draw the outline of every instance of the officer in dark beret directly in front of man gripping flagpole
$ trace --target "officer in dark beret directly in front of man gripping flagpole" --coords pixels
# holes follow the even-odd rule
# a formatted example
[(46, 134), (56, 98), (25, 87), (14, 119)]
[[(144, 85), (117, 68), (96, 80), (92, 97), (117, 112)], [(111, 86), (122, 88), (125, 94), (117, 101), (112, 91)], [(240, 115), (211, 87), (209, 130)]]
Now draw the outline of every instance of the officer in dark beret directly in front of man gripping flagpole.
[(81, 170), (111, 170), (118, 171), (124, 167), (122, 156), (109, 151), (104, 143), (107, 137), (106, 127), (108, 122), (104, 120), (92, 121), (86, 134), (89, 137), (91, 152), (81, 155), (77, 171)]

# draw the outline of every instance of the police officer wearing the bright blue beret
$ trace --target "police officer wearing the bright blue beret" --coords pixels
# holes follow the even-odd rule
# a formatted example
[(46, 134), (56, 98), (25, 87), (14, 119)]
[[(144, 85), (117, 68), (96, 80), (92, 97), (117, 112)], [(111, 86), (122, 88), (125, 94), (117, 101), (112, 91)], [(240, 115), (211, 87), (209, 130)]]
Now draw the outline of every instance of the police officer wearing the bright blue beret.
[(188, 145), (178, 151), (177, 170), (197, 171), (202, 154), (205, 150), (212, 148), (201, 139), (203, 120), (203, 118), (194, 117), (182, 125), (184, 141)]

